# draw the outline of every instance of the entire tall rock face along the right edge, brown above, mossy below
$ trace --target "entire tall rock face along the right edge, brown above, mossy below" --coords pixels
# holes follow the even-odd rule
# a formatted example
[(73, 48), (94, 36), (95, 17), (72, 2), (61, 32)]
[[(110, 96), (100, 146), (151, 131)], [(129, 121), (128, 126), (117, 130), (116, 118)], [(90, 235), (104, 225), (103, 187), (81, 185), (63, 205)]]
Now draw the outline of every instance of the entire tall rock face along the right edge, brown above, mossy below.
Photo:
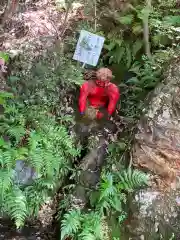
[(180, 58), (170, 64), (139, 122), (133, 163), (152, 173), (154, 184), (130, 201), (124, 239), (179, 240)]

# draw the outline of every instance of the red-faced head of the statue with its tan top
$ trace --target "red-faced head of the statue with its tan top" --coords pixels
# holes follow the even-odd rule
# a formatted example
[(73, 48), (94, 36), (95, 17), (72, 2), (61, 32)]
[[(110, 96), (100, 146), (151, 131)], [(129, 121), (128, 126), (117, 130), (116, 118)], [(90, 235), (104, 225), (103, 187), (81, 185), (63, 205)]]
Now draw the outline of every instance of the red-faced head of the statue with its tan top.
[(96, 84), (100, 87), (106, 87), (112, 79), (112, 72), (108, 68), (100, 68), (96, 72), (96, 76)]

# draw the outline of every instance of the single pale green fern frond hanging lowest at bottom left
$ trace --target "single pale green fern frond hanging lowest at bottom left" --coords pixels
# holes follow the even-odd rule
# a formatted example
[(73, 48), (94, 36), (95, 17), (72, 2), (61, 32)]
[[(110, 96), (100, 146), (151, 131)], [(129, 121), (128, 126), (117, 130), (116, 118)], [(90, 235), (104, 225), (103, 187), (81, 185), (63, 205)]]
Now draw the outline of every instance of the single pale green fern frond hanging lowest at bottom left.
[(23, 192), (14, 187), (10, 189), (5, 195), (5, 209), (10, 217), (15, 220), (17, 228), (24, 225), (27, 216), (27, 202)]

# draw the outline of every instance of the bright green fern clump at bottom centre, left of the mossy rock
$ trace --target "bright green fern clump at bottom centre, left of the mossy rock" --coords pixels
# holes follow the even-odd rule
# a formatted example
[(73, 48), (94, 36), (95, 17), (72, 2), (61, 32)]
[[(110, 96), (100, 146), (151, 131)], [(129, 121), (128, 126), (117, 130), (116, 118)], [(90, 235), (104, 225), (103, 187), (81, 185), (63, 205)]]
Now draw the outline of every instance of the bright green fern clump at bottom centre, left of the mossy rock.
[(123, 203), (126, 203), (126, 195), (122, 191), (133, 190), (147, 183), (148, 176), (138, 170), (128, 169), (122, 173), (104, 173), (99, 189), (92, 192), (90, 196), (93, 209), (88, 213), (74, 209), (63, 216), (61, 239), (65, 239), (65, 237), (105, 239), (103, 220), (113, 214), (117, 215), (119, 223), (126, 218), (122, 207)]

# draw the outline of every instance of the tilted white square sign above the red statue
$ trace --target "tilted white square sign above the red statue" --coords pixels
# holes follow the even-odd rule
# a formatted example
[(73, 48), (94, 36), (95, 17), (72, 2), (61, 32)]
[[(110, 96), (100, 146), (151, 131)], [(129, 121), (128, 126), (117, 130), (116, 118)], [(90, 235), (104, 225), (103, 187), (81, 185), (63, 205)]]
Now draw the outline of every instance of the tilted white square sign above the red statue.
[(104, 44), (104, 37), (81, 30), (73, 59), (96, 66)]

